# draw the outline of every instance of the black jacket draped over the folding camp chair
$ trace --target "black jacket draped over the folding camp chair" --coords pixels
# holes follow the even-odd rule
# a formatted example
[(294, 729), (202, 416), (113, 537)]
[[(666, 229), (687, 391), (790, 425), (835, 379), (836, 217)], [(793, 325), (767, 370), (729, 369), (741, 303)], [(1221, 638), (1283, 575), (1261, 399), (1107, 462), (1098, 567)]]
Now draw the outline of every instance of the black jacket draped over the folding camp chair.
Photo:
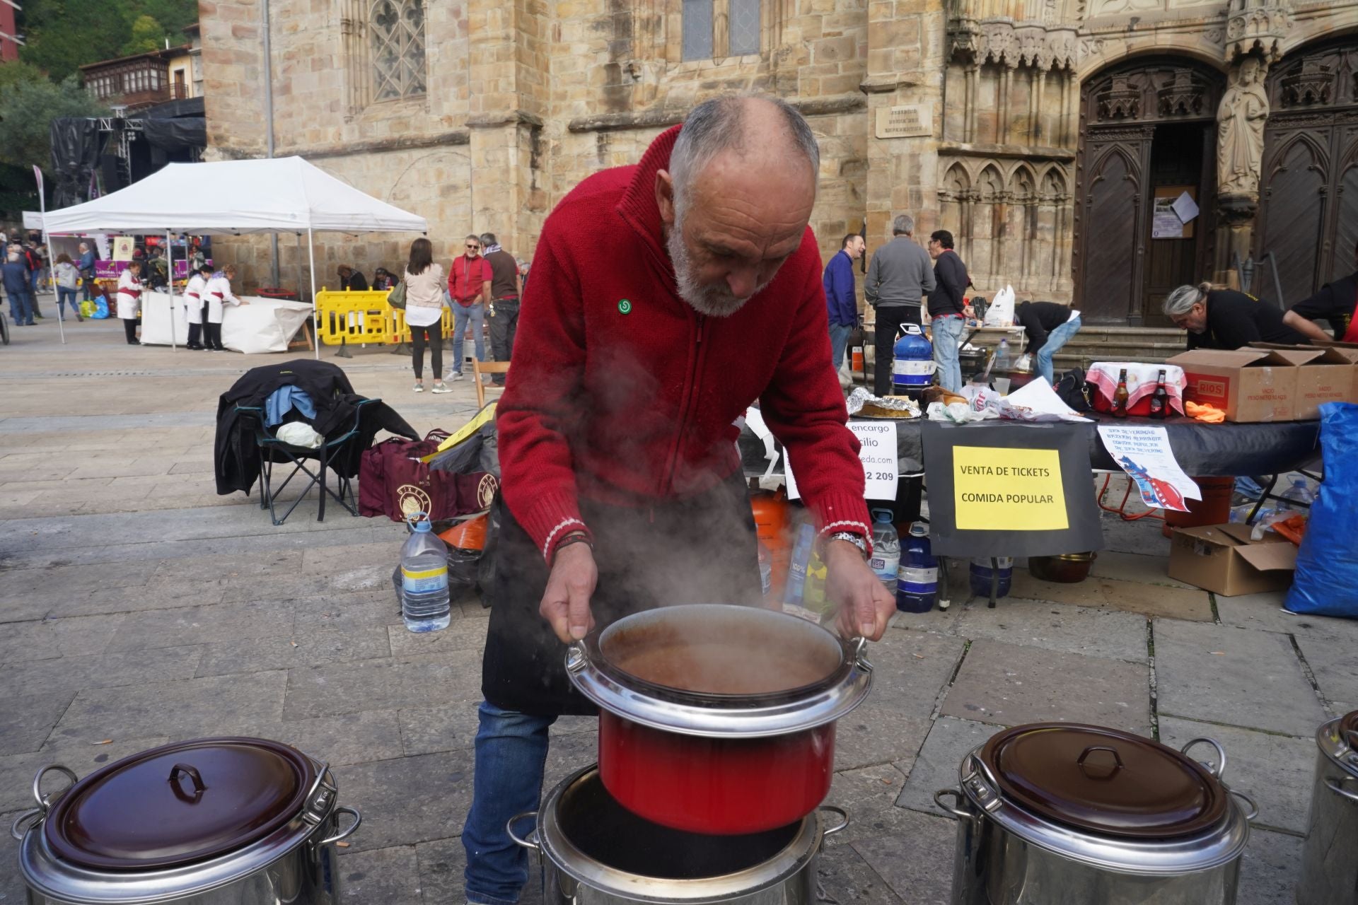
[[(337, 365), (327, 361), (297, 358), (277, 365), (251, 368), (217, 400), (217, 438), (213, 448), (213, 463), (217, 479), (217, 494), (225, 495), (243, 490), (250, 493), (259, 478), (259, 446), (255, 444), (255, 423), (253, 418), (242, 418), (238, 406), (263, 407), (265, 400), (280, 387), (293, 385), (311, 396), (316, 407), (315, 418), (304, 418), (320, 436), (333, 438), (353, 426), (356, 403), (364, 396), (353, 391), (349, 377)], [(388, 430), (402, 437), (418, 440), (414, 429), (405, 418), (383, 402), (363, 407), (359, 422), (359, 436), (333, 461), (342, 476), (359, 474), (359, 457), (372, 445), (379, 430)]]

